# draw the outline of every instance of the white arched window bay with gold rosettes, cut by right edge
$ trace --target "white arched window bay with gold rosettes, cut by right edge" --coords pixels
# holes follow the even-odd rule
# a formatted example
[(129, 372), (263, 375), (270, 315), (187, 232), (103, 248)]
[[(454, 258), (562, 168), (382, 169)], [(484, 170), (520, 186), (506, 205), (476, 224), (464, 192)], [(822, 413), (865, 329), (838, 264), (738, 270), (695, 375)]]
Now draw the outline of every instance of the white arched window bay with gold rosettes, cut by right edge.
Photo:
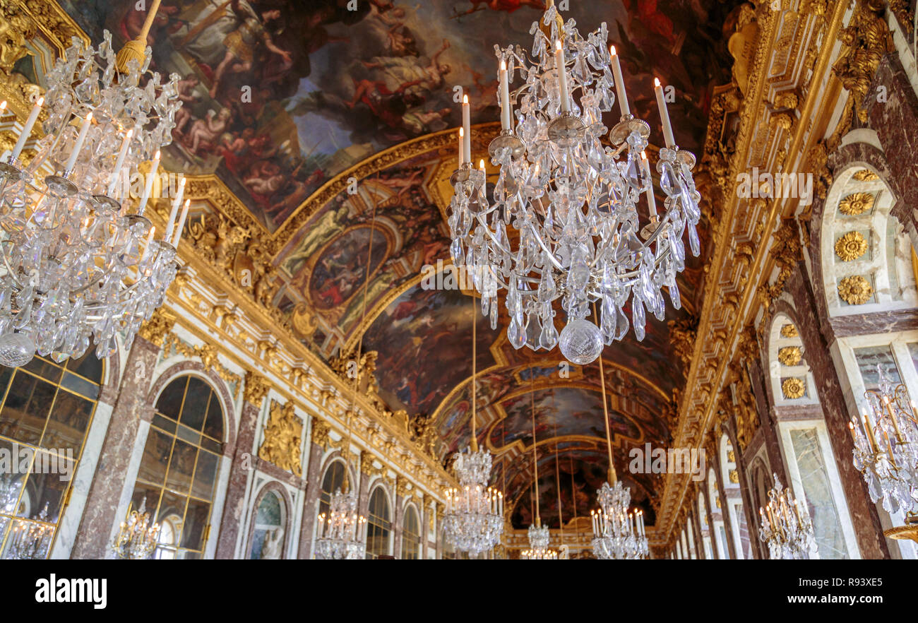
[[(823, 296), (831, 318), (918, 307), (918, 257), (901, 223), (890, 215), (895, 201), (890, 187), (872, 169), (849, 166), (835, 175), (819, 229)], [(886, 320), (882, 316), (878, 320), (851, 323), (852, 329), (833, 345), (834, 349), (837, 345), (833, 360), (849, 413), (864, 413), (864, 392), (877, 388), (878, 366), (893, 382), (903, 383), (918, 402), (918, 331), (890, 331), (883, 328)], [(844, 502), (844, 497), (836, 499)], [(889, 521), (901, 526), (905, 517), (900, 512)], [(846, 542), (856, 556), (856, 542)], [(902, 558), (918, 558), (918, 544), (909, 540), (888, 543), (890, 549), (899, 549)], [(822, 555), (822, 544), (820, 550)]]

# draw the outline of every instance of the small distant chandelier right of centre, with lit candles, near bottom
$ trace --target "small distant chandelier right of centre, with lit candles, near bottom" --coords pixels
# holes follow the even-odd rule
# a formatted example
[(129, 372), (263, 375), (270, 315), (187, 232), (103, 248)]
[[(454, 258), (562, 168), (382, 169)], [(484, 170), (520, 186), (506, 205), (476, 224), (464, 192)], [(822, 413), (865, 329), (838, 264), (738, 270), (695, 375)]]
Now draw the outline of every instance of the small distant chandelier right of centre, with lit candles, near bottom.
[(602, 560), (639, 560), (647, 557), (644, 512), (629, 510), (631, 490), (616, 480), (603, 482), (597, 493), (599, 511), (590, 511), (593, 522), (593, 555)]

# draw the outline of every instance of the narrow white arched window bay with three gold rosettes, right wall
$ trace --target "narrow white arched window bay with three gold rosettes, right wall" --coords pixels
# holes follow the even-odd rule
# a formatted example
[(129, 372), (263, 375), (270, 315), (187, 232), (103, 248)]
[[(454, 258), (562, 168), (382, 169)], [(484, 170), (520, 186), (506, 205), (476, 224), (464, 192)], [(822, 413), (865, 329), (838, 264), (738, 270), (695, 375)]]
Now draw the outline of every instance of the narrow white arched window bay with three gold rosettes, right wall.
[[(791, 489), (800, 504), (806, 500), (817, 546), (814, 557), (857, 556), (854, 526), (847, 512), (823, 408), (800, 332), (785, 314), (778, 313), (772, 321), (768, 353), (778, 433), (790, 479), (782, 484)], [(756, 473), (755, 485), (762, 498), (760, 504), (767, 504), (766, 492), (774, 486), (771, 474), (764, 469)]]

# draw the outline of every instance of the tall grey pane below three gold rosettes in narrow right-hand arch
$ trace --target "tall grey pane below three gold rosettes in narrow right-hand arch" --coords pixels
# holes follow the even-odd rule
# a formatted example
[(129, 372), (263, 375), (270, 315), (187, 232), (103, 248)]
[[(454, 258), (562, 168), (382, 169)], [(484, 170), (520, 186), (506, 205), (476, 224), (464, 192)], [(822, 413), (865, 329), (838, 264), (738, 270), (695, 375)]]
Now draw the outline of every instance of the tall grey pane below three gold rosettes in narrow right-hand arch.
[[(838, 510), (832, 496), (829, 474), (825, 469), (823, 452), (815, 428), (790, 431), (794, 457), (800, 468), (800, 481), (806, 493), (807, 510), (812, 518), (819, 557), (846, 559), (845, 536), (839, 526)], [(802, 501), (800, 501), (802, 503)]]

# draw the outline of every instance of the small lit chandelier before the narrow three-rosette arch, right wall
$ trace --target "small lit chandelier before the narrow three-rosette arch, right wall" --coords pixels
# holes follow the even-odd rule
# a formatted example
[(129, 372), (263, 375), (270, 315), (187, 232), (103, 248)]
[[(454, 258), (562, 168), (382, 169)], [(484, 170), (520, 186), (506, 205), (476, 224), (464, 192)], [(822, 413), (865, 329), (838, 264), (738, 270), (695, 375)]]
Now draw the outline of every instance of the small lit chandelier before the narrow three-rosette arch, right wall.
[(768, 544), (769, 558), (808, 559), (810, 553), (816, 551), (816, 541), (806, 500), (801, 510), (800, 502), (789, 492), (783, 491), (778, 474), (773, 473), (772, 476), (775, 486), (768, 490), (768, 504), (758, 509), (761, 523), (758, 536)]

